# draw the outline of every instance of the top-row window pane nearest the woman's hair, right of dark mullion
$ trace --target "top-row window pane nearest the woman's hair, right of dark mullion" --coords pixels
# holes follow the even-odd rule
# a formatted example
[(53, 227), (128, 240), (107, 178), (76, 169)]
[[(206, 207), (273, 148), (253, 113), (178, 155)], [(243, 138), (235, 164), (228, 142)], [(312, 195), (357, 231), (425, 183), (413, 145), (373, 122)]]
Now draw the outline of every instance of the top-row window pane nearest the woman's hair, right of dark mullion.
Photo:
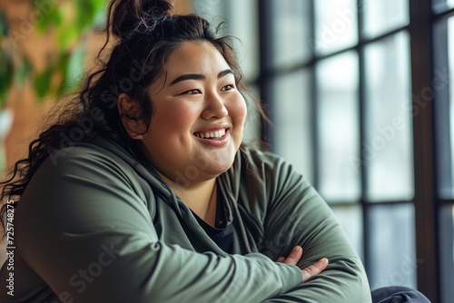
[(273, 66), (283, 67), (307, 61), (311, 47), (311, 2), (271, 1)]

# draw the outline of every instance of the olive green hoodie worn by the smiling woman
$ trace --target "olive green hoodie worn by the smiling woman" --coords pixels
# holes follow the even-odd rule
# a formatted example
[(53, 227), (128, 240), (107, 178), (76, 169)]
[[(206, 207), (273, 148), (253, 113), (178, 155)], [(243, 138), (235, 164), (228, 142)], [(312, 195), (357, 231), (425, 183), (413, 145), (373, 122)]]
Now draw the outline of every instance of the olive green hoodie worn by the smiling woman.
[[(203, 169), (193, 163), (180, 182)], [(0, 301), (370, 302), (360, 259), (291, 165), (242, 150), (217, 184), (231, 254), (153, 168), (113, 142), (51, 152), (15, 211), (14, 269), (10, 259), (0, 272)], [(304, 249), (299, 268), (322, 257), (330, 265), (301, 283), (301, 269), (275, 262), (295, 245)]]

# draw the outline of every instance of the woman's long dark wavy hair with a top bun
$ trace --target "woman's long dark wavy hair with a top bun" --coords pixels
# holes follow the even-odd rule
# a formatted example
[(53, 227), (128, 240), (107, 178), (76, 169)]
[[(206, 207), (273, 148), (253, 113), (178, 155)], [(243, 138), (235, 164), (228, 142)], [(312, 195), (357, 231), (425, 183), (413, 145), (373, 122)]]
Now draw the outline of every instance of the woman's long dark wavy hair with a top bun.
[[(0, 201), (20, 198), (43, 161), (48, 157), (55, 161), (58, 151), (68, 144), (90, 142), (97, 135), (123, 146), (128, 144), (130, 138), (121, 120), (132, 119), (149, 125), (153, 103), (147, 89), (163, 75), (169, 56), (185, 41), (208, 41), (214, 45), (235, 73), (239, 90), (246, 92), (232, 37), (218, 37), (219, 27), (213, 28), (198, 15), (172, 15), (172, 9), (173, 5), (164, 0), (114, 0), (109, 5), (107, 39), (98, 54), (101, 66), (88, 75), (80, 93), (64, 104), (64, 112), (56, 122), (30, 143), (28, 157), (15, 163), (11, 177), (0, 183), (5, 185)], [(104, 61), (102, 54), (112, 35), (114, 48)], [(117, 108), (120, 93), (139, 103), (140, 111), (120, 114)], [(129, 146), (129, 150), (133, 154), (141, 153), (138, 145)], [(3, 225), (5, 216), (6, 204), (0, 211)]]

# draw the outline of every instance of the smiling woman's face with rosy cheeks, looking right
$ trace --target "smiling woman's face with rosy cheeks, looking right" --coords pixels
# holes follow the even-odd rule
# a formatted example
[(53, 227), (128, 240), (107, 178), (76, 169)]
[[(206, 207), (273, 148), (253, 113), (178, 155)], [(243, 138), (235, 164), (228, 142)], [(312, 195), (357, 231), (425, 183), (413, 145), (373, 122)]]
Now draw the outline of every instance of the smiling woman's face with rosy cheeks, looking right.
[(184, 42), (165, 73), (150, 90), (153, 116), (142, 139), (153, 166), (180, 186), (227, 171), (246, 116), (229, 64), (208, 42)]

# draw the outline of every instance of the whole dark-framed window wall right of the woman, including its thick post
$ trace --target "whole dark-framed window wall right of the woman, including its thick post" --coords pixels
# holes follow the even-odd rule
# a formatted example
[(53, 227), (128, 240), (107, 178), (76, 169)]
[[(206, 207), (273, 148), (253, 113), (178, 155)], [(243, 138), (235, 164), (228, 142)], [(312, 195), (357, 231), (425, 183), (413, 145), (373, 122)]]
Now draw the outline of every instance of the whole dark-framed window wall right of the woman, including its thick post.
[(233, 2), (218, 13), (256, 43), (262, 138), (331, 205), (371, 288), (454, 302), (454, 1)]

